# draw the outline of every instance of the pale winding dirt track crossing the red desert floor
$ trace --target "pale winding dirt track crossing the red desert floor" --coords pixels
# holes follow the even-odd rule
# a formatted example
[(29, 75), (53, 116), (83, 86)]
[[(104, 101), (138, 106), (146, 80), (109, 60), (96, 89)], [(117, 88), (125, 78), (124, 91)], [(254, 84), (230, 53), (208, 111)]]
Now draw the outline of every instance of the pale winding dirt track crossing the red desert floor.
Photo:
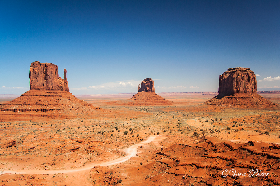
[[(129, 160), (131, 157), (136, 156), (137, 154), (137, 149), (139, 146), (144, 145), (146, 143), (150, 143), (152, 141), (158, 142), (163, 139), (167, 138), (166, 136), (161, 136), (161, 135), (150, 135), (149, 138), (146, 141), (140, 142), (138, 144), (132, 145), (126, 149), (124, 149), (124, 152), (127, 153), (125, 157), (120, 157), (118, 159), (109, 161), (109, 162), (104, 162), (104, 163), (98, 163), (98, 164), (89, 164), (86, 165), (82, 168), (77, 168), (77, 169), (62, 169), (62, 170), (13, 170), (13, 171), (3, 171), (0, 174), (58, 174), (58, 173), (71, 173), (71, 172), (79, 172), (79, 171), (85, 171), (85, 170), (90, 170), (94, 166), (110, 166), (110, 165), (115, 165), (119, 164), (122, 162), (125, 162)], [(158, 144), (158, 143), (156, 143)], [(158, 145), (157, 145), (158, 146)], [(161, 145), (159, 145), (161, 146)], [(162, 146), (161, 146), (162, 147)]]

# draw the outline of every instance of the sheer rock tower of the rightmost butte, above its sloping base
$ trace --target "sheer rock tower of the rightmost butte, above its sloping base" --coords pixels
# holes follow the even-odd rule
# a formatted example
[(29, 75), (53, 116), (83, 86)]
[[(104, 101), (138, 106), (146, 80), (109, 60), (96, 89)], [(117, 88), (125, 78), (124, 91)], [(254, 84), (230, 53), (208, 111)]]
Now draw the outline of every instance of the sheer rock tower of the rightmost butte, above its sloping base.
[(250, 68), (230, 68), (219, 78), (219, 95), (229, 96), (237, 93), (256, 93), (257, 79)]

